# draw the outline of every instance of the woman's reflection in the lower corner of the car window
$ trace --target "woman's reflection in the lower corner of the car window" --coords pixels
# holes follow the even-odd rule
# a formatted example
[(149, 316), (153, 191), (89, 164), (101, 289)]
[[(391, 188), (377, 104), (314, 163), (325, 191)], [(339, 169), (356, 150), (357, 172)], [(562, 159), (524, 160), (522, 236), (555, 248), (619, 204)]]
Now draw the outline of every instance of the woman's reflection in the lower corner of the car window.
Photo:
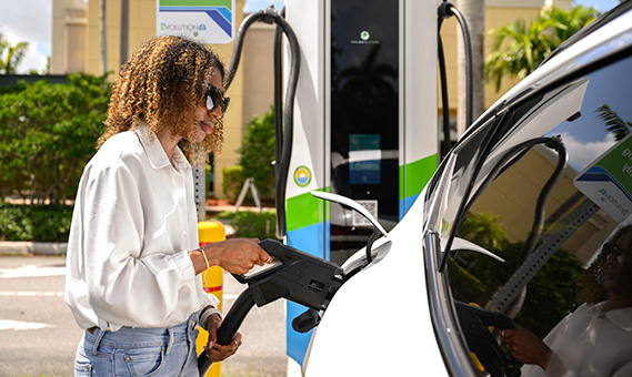
[(522, 376), (632, 376), (632, 225), (620, 228), (586, 269), (582, 300), (541, 340), (500, 332)]

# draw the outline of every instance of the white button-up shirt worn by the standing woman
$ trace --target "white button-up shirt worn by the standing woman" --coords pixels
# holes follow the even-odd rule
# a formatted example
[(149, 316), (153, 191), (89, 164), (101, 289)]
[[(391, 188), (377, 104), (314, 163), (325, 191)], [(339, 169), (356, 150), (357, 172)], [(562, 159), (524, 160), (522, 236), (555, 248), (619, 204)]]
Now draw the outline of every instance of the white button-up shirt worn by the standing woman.
[(198, 247), (191, 166), (147, 125), (111, 136), (83, 171), (67, 255), (66, 302), (82, 328), (168, 327), (218, 299)]

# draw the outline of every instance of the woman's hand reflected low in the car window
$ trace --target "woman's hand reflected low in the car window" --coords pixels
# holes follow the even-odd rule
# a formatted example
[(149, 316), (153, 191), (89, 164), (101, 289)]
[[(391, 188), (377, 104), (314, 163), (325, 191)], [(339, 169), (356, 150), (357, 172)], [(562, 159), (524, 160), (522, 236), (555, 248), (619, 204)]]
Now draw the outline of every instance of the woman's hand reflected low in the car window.
[(502, 342), (516, 360), (523, 364), (535, 364), (545, 368), (551, 357), (551, 348), (526, 328), (515, 325), (515, 328), (499, 330)]

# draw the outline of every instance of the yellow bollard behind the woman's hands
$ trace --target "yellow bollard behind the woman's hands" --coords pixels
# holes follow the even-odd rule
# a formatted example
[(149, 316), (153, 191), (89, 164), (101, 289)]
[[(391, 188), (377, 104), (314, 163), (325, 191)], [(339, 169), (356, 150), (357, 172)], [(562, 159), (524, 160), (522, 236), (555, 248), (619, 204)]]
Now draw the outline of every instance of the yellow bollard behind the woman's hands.
[[(198, 223), (198, 235), (200, 237), (200, 246), (210, 244), (211, 242), (224, 241), (225, 240), (225, 227), (222, 223), (215, 220), (203, 221)], [(222, 309), (222, 294), (223, 294), (223, 269), (219, 266), (212, 266), (202, 273), (202, 284), (207, 293), (215, 295), (219, 298), (219, 309)], [(195, 349), (198, 355), (204, 349), (204, 346), (209, 343), (209, 333), (198, 328), (200, 334), (198, 335), (198, 342), (195, 344)], [(221, 363), (213, 363), (207, 377), (220, 377)]]

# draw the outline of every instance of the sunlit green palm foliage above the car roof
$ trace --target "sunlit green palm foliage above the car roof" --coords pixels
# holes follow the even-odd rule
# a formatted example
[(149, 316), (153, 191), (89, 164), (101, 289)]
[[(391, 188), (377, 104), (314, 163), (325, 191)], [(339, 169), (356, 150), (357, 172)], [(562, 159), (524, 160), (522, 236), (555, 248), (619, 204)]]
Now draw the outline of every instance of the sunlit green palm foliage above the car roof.
[(500, 90), (502, 79), (518, 83), (572, 34), (599, 17), (592, 8), (575, 6), (570, 12), (545, 8), (531, 24), (523, 19), (491, 30), (492, 52), (485, 58), (484, 75)]

